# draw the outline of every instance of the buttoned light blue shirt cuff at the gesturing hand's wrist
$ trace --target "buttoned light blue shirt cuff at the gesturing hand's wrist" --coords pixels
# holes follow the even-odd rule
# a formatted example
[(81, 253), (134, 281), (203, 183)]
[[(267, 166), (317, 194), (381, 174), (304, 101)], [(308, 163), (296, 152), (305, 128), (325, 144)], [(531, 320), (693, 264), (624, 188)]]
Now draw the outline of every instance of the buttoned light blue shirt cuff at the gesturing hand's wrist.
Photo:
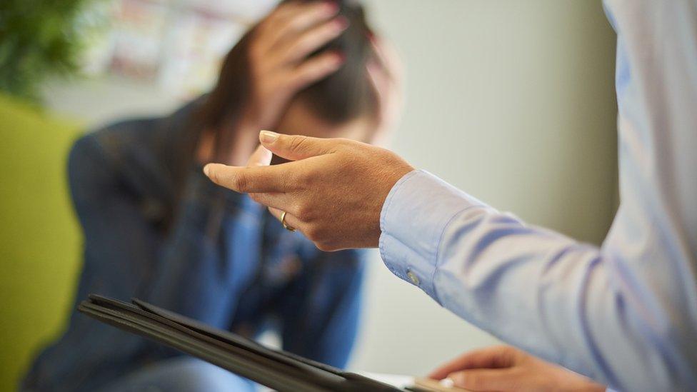
[(458, 213), (475, 206), (486, 207), (427, 171), (406, 174), (392, 187), (380, 214), (383, 262), (441, 303), (433, 285), (441, 236)]

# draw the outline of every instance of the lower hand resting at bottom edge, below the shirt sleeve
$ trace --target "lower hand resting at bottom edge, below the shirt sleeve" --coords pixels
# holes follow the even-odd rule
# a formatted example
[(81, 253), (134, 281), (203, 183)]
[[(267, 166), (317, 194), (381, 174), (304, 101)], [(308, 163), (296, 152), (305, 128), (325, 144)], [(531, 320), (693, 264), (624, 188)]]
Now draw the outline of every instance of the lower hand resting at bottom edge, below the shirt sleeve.
[(454, 386), (470, 391), (592, 391), (606, 388), (561, 366), (553, 365), (510, 346), (471, 351), (429, 375), (450, 378)]

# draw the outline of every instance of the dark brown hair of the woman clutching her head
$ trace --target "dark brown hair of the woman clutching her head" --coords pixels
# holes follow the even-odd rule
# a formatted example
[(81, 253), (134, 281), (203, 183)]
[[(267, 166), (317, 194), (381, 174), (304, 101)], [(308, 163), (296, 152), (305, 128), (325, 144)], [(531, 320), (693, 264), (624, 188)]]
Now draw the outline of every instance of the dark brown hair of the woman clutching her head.
[[(366, 64), (373, 56), (373, 49), (372, 32), (366, 22), (363, 6), (351, 0), (337, 3), (338, 15), (344, 16), (349, 26), (339, 37), (310, 56), (324, 51), (339, 51), (345, 58), (344, 64), (338, 71), (307, 86), (294, 97), (301, 99), (316, 116), (329, 124), (341, 124), (363, 114), (374, 114), (377, 106), (375, 91), (366, 70)], [(191, 118), (191, 126), (181, 138), (181, 144), (177, 143), (178, 148), (170, 151), (176, 155), (173, 174), (178, 194), (184, 189), (186, 174), (194, 161), (202, 132), (215, 132), (216, 160), (225, 156), (226, 146), (234, 139), (231, 129), (236, 128), (242, 116), (241, 111), (244, 110), (242, 106), (250, 94), (248, 53), (255, 27), (247, 31), (226, 55), (216, 86), (196, 109)], [(173, 213), (174, 209), (172, 208)]]

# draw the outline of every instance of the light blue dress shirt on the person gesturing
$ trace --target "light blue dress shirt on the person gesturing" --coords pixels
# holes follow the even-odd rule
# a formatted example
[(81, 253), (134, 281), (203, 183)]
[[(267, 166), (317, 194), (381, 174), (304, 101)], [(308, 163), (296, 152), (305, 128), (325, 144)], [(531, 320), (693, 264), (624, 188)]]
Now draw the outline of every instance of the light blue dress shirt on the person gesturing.
[(425, 171), (393, 187), (398, 277), (503, 341), (623, 391), (697, 390), (697, 1), (610, 0), (621, 205), (603, 245)]

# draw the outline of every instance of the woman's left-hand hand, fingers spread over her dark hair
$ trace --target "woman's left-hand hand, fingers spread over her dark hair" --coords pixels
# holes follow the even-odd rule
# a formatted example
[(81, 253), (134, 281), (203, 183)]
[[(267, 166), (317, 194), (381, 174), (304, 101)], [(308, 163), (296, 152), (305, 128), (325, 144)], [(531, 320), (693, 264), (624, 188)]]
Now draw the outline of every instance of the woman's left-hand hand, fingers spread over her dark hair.
[(251, 88), (245, 124), (271, 128), (298, 91), (341, 67), (344, 56), (336, 51), (308, 58), (348, 27), (338, 12), (334, 1), (290, 1), (254, 28), (247, 47)]

